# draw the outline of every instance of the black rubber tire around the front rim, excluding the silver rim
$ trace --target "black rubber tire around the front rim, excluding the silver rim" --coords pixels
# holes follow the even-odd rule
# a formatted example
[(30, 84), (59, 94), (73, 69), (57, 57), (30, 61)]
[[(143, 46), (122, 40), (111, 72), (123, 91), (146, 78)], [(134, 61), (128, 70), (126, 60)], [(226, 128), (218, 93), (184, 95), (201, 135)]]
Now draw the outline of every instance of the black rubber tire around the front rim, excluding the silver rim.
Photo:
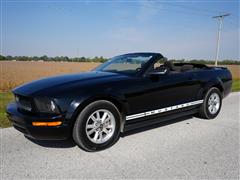
[[(88, 118), (97, 110), (105, 109), (112, 113), (115, 118), (115, 130), (110, 139), (103, 143), (94, 143), (92, 142), (87, 133), (86, 133), (86, 124)], [(120, 136), (120, 126), (121, 126), (121, 119), (120, 113), (117, 107), (105, 100), (98, 100), (95, 101), (88, 106), (86, 106), (81, 113), (78, 115), (76, 122), (73, 127), (73, 139), (75, 143), (85, 151), (93, 152), (93, 151), (100, 151), (112, 146), (114, 143), (117, 142)]]

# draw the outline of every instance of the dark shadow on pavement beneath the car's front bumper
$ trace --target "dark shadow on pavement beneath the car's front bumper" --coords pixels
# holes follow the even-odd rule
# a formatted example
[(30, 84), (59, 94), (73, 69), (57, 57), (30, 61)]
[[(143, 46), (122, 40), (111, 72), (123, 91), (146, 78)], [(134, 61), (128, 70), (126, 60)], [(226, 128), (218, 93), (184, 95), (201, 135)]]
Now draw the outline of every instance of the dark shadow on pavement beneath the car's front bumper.
[(72, 139), (68, 140), (35, 140), (25, 136), (31, 142), (48, 148), (71, 148), (76, 146)]

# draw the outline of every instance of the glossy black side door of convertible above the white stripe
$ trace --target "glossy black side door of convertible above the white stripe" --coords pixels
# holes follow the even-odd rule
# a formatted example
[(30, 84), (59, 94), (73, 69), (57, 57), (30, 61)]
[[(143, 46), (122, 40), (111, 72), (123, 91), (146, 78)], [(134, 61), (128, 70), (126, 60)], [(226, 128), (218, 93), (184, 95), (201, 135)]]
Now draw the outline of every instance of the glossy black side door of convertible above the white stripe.
[(157, 79), (149, 76), (135, 81), (126, 98), (129, 114), (144, 113), (196, 100), (198, 84), (189, 73), (170, 72)]

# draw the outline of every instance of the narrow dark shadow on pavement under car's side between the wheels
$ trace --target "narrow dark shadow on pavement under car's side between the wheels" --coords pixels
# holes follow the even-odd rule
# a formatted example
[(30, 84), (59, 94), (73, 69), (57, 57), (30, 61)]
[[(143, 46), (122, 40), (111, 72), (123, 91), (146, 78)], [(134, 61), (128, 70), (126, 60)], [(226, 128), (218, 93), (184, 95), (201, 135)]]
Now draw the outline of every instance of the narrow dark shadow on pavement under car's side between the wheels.
[[(122, 133), (121, 137), (130, 136), (130, 135), (133, 135), (133, 134), (136, 134), (136, 133), (141, 133), (141, 132), (148, 131), (148, 130), (151, 130), (151, 129), (155, 129), (155, 128), (167, 126), (167, 125), (170, 125), (170, 124), (174, 124), (174, 123), (177, 123), (177, 122), (181, 122), (181, 121), (184, 121), (184, 120), (189, 120), (193, 117), (194, 116), (192, 116), (192, 115), (188, 115), (188, 116), (184, 116), (184, 117), (180, 117), (180, 118), (176, 118), (176, 119), (172, 119), (172, 120), (168, 120), (168, 121), (164, 121), (164, 122), (159, 122), (159, 123), (156, 123), (156, 124), (153, 124), (153, 125), (129, 130), (129, 131), (126, 131), (126, 132)], [(186, 124), (188, 125), (189, 122), (186, 122)]]

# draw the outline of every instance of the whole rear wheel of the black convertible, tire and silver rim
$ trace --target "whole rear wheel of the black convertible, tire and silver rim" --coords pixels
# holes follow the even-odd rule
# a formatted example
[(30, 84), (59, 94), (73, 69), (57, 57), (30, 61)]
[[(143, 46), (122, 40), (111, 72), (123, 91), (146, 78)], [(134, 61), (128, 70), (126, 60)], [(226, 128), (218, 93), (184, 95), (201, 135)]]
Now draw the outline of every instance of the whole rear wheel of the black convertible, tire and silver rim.
[(203, 104), (199, 109), (199, 116), (205, 119), (214, 119), (221, 110), (222, 94), (218, 88), (208, 90), (204, 97)]

